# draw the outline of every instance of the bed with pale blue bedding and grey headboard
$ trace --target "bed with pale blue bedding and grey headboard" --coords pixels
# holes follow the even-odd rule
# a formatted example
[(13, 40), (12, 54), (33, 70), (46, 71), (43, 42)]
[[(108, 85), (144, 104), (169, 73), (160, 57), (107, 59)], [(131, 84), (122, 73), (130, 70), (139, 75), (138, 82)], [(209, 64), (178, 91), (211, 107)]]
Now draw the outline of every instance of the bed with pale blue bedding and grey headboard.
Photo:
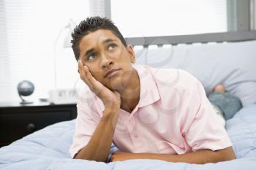
[[(243, 108), (227, 120), (236, 160), (204, 165), (157, 160), (113, 163), (74, 160), (69, 146), (75, 120), (56, 123), (0, 148), (0, 169), (256, 169), (256, 31), (129, 38), (137, 63), (185, 69), (200, 80), (206, 93), (222, 83), (241, 98)], [(140, 46), (140, 47), (136, 47)], [(157, 57), (157, 58), (156, 58)], [(113, 146), (111, 150), (116, 150)]]

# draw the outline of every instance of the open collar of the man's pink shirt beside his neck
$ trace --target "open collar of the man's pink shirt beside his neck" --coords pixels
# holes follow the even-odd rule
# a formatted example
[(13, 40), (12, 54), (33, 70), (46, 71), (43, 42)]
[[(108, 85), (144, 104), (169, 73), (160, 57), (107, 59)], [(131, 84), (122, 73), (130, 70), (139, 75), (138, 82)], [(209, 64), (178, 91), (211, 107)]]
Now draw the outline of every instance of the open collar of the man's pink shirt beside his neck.
[(140, 100), (138, 107), (145, 107), (158, 101), (160, 98), (159, 90), (151, 72), (149, 72), (146, 69), (146, 66), (143, 65), (134, 64), (132, 66), (137, 71), (140, 78)]

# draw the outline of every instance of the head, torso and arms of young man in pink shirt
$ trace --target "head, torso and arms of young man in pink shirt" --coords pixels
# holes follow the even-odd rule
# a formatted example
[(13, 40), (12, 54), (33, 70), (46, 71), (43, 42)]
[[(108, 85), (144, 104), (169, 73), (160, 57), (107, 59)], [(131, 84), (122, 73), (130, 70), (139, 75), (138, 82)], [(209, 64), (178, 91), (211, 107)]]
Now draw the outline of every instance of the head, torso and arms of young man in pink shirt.
[[(225, 121), (203, 85), (181, 69), (135, 66), (135, 53), (107, 18), (87, 18), (72, 33), (80, 78), (72, 158), (216, 163), (235, 159)], [(157, 59), (157, 56), (156, 56)]]

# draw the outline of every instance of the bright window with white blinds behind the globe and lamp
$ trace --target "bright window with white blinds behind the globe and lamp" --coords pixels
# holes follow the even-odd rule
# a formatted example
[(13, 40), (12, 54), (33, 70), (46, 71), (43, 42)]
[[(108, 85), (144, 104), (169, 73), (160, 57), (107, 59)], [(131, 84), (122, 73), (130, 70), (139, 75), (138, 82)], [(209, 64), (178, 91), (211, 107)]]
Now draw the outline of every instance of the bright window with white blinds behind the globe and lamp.
[(0, 101), (20, 101), (22, 80), (34, 83), (32, 98), (48, 97), (55, 86), (73, 88), (78, 68), (72, 48), (63, 48), (64, 27), (88, 16), (89, 0), (0, 1)]

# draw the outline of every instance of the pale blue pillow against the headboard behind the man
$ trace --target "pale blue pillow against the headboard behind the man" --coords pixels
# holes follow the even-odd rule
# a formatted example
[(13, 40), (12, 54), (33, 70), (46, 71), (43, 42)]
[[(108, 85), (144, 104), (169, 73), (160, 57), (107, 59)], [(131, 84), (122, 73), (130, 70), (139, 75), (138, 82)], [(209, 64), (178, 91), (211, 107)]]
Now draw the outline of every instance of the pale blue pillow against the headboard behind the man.
[(222, 84), (244, 106), (256, 103), (256, 41), (146, 48), (135, 54), (138, 64), (187, 70), (202, 82), (207, 95)]

